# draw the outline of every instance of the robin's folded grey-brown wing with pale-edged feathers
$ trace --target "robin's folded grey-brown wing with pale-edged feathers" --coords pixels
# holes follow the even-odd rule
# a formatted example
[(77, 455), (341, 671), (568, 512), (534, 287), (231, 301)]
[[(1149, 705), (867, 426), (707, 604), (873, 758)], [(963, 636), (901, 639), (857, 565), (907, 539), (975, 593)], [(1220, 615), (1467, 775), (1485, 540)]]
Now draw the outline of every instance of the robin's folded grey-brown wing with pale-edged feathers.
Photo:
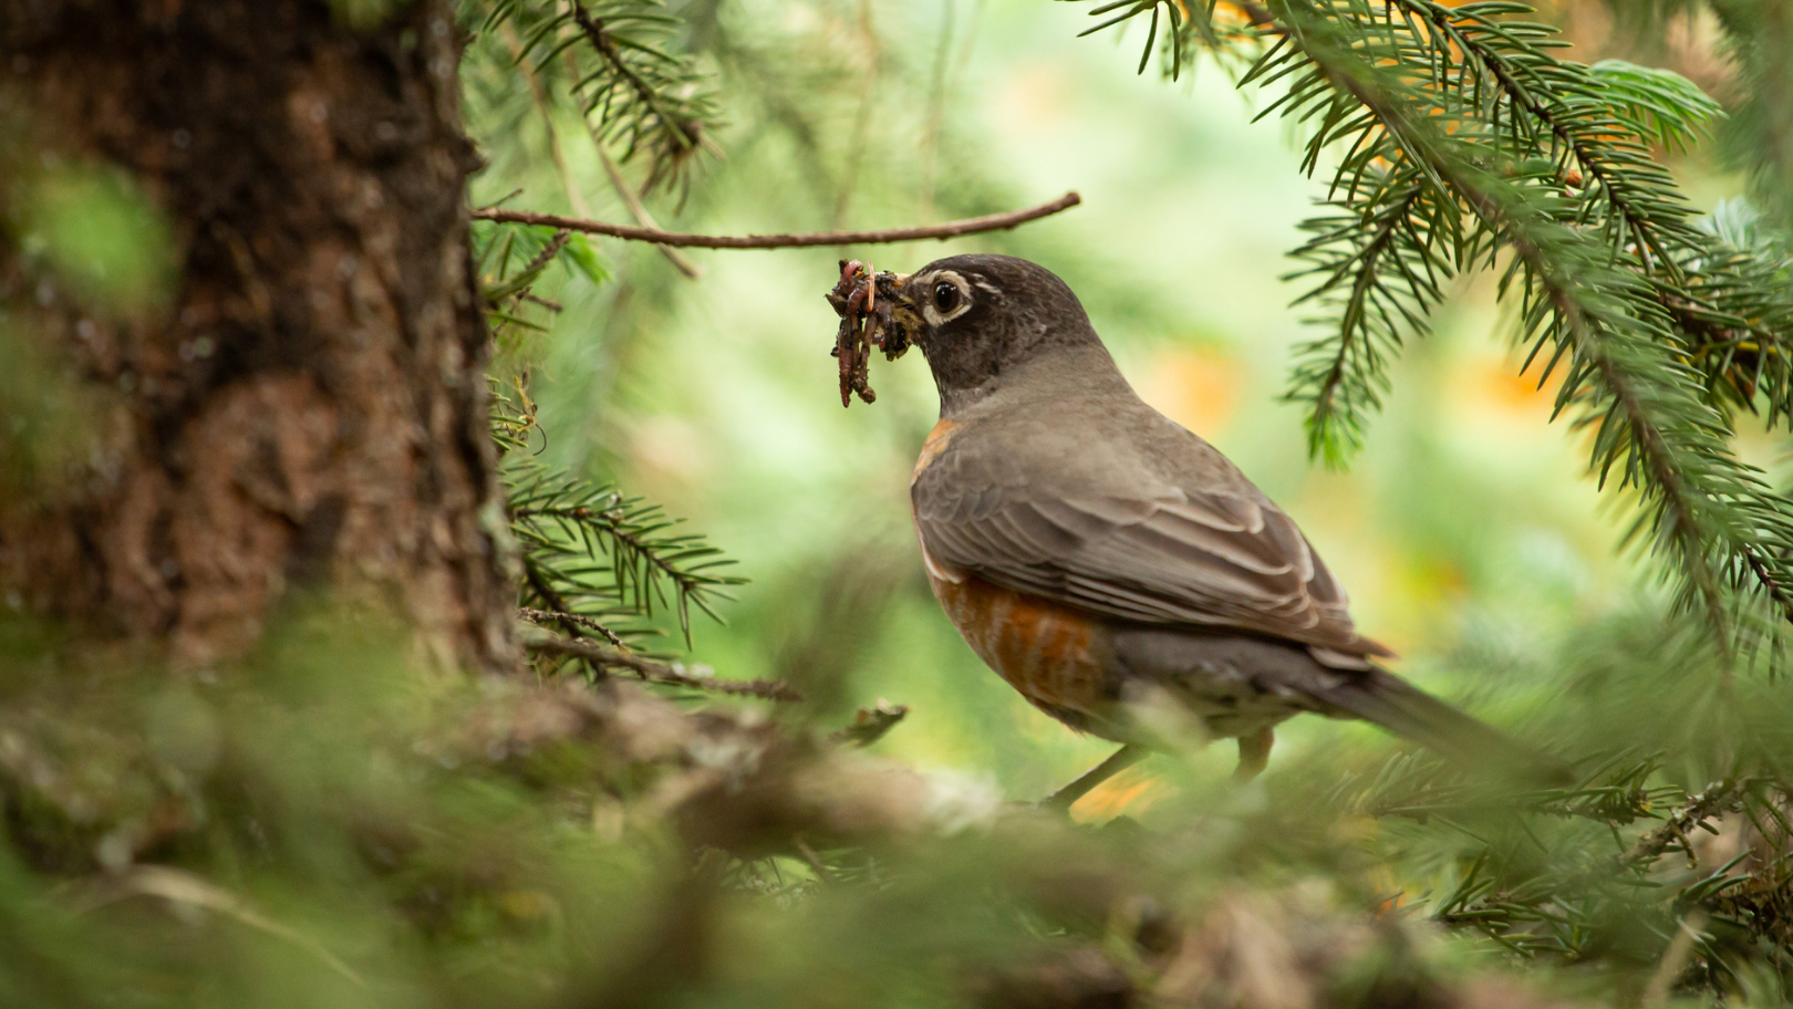
[[(1165, 421), (1167, 423), (1167, 421)], [(1022, 464), (992, 439), (954, 439), (911, 486), (931, 563), (1103, 617), (1234, 627), (1350, 661), (1391, 654), (1295, 522), (1219, 452), (1187, 439), (1153, 462), (1099, 446)], [(968, 432), (966, 432), (968, 434)]]

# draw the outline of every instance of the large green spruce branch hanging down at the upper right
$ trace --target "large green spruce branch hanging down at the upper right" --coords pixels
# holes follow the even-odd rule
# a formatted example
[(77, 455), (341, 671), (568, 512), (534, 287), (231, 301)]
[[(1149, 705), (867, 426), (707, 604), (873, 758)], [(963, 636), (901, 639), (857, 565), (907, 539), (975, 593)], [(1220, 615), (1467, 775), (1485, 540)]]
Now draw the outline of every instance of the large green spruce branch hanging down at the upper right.
[[(1347, 215), (1311, 222), (1296, 253), (1320, 276), (1304, 301), (1338, 312), (1291, 391), (1311, 403), (1314, 450), (1338, 461), (1361, 441), (1388, 358), (1425, 332), (1438, 278), (1504, 258), (1499, 290), (1519, 299), (1526, 364), (1549, 348), (1540, 382), (1565, 367), (1556, 414), (1594, 432), (1603, 484), (1639, 491), (1630, 536), (1671, 563), (1678, 602), (1725, 647), (1784, 640), (1786, 625), (1732, 620), (1732, 593), (1779, 604), (1793, 584), (1789, 507), (1736, 461), (1728, 414), (1687, 364), (1696, 339), (1669, 305), (1711, 312), (1712, 244), (1644, 140), (1691, 134), (1712, 104), (1655, 72), (1551, 57), (1551, 29), (1494, 20), (1526, 11), (1506, 0), (1235, 5), (1259, 47), (1241, 84), (1284, 88), (1260, 115), (1305, 125), (1304, 170), (1347, 151), (1332, 181)], [(1237, 34), (1185, 34), (1244, 48)]]

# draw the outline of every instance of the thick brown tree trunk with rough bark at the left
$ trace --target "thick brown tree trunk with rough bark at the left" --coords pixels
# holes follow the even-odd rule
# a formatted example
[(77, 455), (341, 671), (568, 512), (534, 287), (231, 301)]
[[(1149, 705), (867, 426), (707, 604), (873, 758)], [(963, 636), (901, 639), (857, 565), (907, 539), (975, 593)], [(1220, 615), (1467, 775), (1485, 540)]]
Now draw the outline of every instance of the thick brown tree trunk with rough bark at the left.
[[(0, 330), (86, 421), (0, 484), (14, 609), (208, 665), (316, 586), (509, 660), (452, 4), (394, 7), (0, 0)], [(66, 165), (161, 210), (172, 299), (104, 310), (22, 242), (23, 179)]]

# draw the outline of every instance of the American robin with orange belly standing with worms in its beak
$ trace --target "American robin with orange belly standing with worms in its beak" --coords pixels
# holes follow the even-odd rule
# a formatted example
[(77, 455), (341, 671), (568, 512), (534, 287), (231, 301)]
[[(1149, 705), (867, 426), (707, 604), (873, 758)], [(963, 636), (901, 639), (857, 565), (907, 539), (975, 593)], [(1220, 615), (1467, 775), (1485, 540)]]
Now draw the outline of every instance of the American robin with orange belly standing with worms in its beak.
[(889, 287), (940, 423), (909, 496), (922, 561), (965, 642), (1036, 708), (1124, 744), (1069, 805), (1153, 746), (1174, 699), (1262, 771), (1300, 711), (1445, 755), (1511, 756), (1494, 729), (1379, 667), (1295, 522), (1207, 441), (1148, 407), (1076, 294), (1013, 256), (952, 256)]

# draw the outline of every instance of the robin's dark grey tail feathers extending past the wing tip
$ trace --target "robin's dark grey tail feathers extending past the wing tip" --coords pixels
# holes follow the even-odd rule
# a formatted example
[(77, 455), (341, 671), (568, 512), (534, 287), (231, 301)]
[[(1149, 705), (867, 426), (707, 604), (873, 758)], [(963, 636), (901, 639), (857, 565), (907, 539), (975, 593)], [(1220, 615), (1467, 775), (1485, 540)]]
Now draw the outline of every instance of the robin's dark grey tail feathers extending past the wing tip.
[(1569, 778), (1567, 767), (1381, 667), (1343, 685), (1314, 690), (1314, 695), (1465, 767), (1511, 769), (1547, 783)]

